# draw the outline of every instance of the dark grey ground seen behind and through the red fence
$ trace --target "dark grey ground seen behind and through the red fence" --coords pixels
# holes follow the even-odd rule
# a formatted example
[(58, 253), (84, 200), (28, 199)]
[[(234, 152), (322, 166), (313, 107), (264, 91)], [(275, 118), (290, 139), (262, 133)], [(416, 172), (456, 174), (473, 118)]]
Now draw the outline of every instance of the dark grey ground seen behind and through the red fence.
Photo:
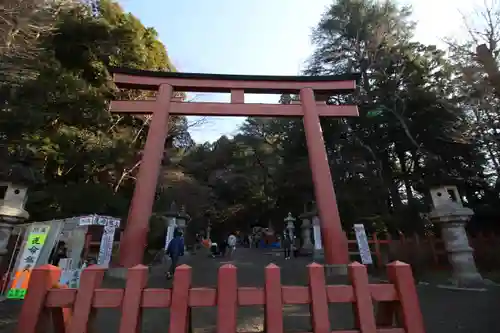
[[(264, 267), (274, 262), (282, 268), (284, 285), (306, 285), (308, 258), (285, 261), (276, 253), (261, 250), (238, 249), (234, 260), (211, 259), (205, 255), (184, 258), (193, 267), (193, 285), (215, 287), (217, 268), (225, 263), (238, 267), (240, 286), (263, 286)], [(153, 269), (149, 287), (170, 287), (163, 277), (162, 267)], [(345, 279), (333, 279), (329, 284), (346, 283)], [(122, 288), (124, 282), (107, 279), (107, 288)], [(487, 291), (454, 291), (433, 285), (417, 287), (427, 333), (500, 333), (500, 288), (490, 287)], [(4, 301), (0, 303), (0, 333), (14, 333), (16, 315), (20, 303)], [(100, 309), (92, 333), (118, 332), (120, 318), (118, 309)], [(215, 331), (216, 308), (193, 309), (193, 333)], [(284, 328), (287, 332), (312, 331), (307, 306), (286, 306), (283, 309)], [(143, 316), (143, 333), (165, 332), (168, 328), (168, 309), (148, 309)], [(332, 330), (353, 327), (350, 304), (331, 305), (330, 321)], [(238, 312), (238, 332), (261, 332), (264, 330), (264, 310), (259, 307), (242, 307)]]

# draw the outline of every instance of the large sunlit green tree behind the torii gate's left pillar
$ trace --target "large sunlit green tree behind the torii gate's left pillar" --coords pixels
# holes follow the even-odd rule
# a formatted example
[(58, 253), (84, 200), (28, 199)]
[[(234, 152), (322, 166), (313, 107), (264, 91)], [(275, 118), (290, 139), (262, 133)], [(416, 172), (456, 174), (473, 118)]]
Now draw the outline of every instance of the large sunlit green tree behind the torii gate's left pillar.
[[(125, 216), (149, 119), (110, 114), (108, 101), (121, 93), (109, 84), (107, 68), (175, 68), (156, 31), (113, 1), (101, 1), (98, 16), (78, 5), (55, 19), (55, 30), (39, 41), (37, 75), (2, 86), (9, 97), (0, 132), (10, 162), (3, 167), (22, 163), (41, 174), (28, 201), (34, 219)], [(185, 118), (170, 127), (174, 145), (191, 144)]]

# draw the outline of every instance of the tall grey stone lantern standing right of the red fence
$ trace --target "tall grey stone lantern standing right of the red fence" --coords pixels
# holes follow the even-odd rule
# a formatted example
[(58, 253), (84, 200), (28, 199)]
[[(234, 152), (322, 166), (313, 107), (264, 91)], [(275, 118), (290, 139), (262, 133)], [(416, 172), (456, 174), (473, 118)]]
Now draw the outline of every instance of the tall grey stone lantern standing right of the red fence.
[(457, 287), (483, 284), (465, 231), (465, 224), (474, 212), (463, 206), (456, 186), (433, 187), (430, 193), (434, 209), (429, 218), (441, 228), (448, 260), (453, 267), (452, 283)]

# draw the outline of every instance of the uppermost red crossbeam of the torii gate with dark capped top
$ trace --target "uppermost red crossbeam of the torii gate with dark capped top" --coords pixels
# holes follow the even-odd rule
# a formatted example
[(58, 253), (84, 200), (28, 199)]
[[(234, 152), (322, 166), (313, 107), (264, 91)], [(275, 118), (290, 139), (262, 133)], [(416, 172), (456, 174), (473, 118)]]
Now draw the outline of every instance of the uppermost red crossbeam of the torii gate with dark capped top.
[(159, 72), (129, 68), (111, 68), (111, 72), (119, 88), (158, 90), (161, 84), (169, 84), (176, 91), (218, 93), (239, 89), (245, 93), (295, 94), (302, 88), (312, 88), (316, 94), (327, 95), (352, 92), (359, 80), (359, 74), (356, 73), (328, 76), (268, 76)]

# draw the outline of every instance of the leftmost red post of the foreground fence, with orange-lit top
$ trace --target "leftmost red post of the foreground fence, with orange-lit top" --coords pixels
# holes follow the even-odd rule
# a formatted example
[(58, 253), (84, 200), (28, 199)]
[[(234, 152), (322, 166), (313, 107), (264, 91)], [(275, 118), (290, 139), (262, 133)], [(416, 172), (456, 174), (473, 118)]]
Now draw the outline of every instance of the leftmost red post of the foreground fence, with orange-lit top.
[(48, 291), (59, 282), (61, 269), (44, 265), (33, 270), (18, 318), (18, 333), (47, 332), (50, 315), (45, 308)]

